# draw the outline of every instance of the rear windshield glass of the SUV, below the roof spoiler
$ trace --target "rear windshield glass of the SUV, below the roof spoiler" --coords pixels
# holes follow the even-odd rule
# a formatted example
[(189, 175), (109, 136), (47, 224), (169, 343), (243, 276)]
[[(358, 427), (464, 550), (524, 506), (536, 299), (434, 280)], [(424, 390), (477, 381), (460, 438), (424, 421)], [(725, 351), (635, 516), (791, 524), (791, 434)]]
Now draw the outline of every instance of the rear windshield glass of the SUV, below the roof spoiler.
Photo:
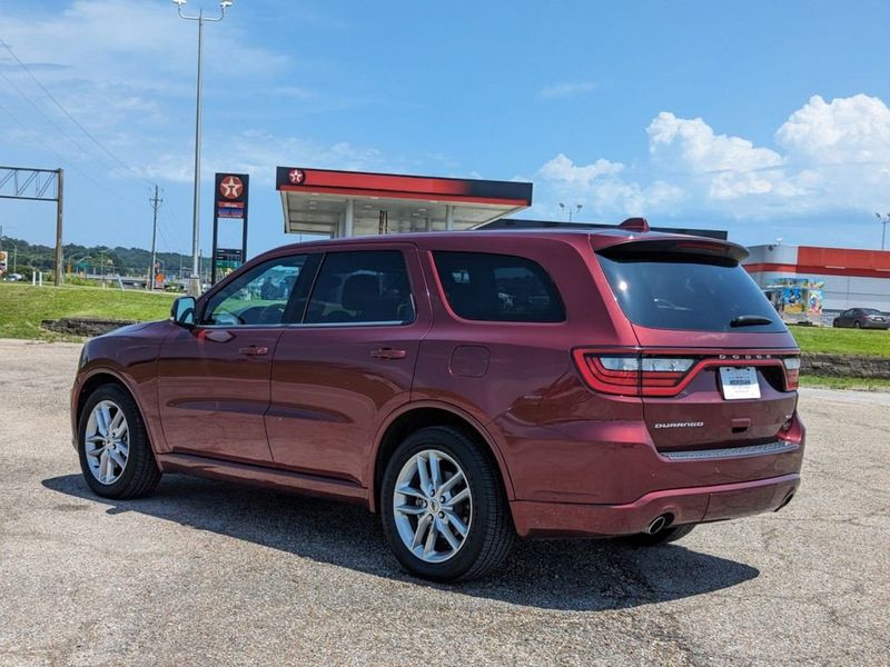
[[(624, 315), (635, 325), (688, 331), (785, 330), (735, 260), (651, 253), (599, 257)], [(755, 323), (759, 318), (769, 323)]]

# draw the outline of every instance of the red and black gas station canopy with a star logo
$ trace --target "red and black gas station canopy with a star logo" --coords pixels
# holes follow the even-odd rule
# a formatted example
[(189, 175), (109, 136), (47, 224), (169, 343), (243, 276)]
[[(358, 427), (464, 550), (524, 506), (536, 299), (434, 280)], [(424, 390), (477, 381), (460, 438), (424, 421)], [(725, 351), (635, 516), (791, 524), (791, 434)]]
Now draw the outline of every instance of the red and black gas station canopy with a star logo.
[(278, 167), (285, 233), (472, 229), (532, 205), (532, 183)]

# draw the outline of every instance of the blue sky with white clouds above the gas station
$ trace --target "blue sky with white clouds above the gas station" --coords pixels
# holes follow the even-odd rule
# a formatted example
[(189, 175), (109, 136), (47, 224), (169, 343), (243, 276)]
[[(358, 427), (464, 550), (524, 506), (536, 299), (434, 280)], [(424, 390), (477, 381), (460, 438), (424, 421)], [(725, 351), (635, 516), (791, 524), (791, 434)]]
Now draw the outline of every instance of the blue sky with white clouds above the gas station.
[[(295, 240), (279, 165), (530, 180), (520, 217), (879, 248), (888, 24), (864, 0), (235, 0), (205, 30), (201, 248), (216, 171), (250, 175), (250, 256)], [(0, 0), (0, 165), (65, 168), (66, 242), (148, 247), (157, 183), (158, 248), (190, 252), (195, 23), (167, 0)], [(51, 245), (53, 205), (0, 199), (0, 225)]]

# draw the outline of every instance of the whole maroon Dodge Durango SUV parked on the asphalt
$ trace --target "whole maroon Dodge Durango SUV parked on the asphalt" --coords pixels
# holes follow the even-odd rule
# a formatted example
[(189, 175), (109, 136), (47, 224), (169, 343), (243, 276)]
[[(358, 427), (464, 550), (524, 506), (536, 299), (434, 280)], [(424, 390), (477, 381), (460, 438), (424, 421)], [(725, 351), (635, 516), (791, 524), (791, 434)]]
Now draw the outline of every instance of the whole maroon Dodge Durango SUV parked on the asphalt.
[(642, 219), (273, 250), (83, 347), (83, 476), (109, 498), (188, 472), (360, 502), (436, 580), (517, 535), (659, 545), (778, 510), (800, 357), (745, 255)]

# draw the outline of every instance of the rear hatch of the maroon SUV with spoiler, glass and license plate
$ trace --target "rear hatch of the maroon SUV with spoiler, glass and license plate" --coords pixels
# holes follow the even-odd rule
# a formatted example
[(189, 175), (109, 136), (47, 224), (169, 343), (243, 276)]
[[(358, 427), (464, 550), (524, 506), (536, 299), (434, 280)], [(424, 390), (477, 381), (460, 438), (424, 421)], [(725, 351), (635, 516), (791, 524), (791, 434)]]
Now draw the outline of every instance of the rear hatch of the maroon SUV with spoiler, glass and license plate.
[[(606, 377), (635, 384), (660, 451), (769, 445), (791, 427), (799, 350), (740, 266), (734, 243), (632, 240), (597, 252), (639, 348), (610, 350)], [(590, 361), (590, 359), (587, 359)], [(611, 380), (610, 380), (611, 381)]]

